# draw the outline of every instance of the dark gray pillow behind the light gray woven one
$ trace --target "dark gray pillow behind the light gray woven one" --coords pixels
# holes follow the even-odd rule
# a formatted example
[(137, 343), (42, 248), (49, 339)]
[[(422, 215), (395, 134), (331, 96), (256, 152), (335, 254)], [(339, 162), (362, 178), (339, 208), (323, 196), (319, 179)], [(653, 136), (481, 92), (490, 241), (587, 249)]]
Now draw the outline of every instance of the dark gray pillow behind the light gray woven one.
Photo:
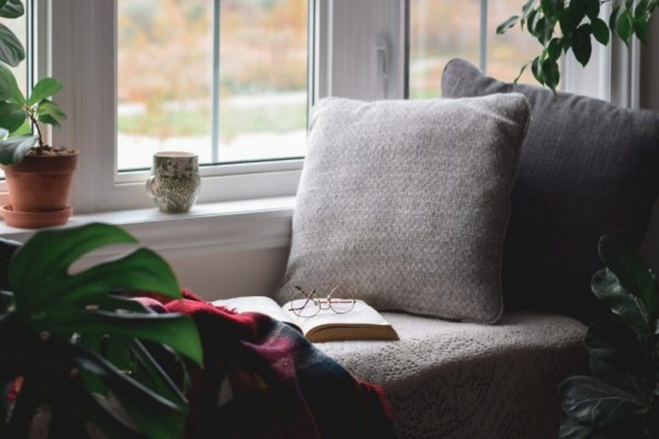
[(590, 292), (602, 234), (640, 244), (659, 191), (659, 114), (487, 77), (447, 64), (445, 97), (521, 92), (531, 102), (503, 255), (507, 306), (582, 321), (606, 309)]

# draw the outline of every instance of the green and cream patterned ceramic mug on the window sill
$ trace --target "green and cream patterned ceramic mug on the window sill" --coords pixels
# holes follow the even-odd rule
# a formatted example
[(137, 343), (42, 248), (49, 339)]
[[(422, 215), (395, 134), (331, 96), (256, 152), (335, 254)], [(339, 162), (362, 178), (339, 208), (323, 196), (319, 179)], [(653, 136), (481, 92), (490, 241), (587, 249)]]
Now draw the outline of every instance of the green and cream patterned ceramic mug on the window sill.
[(147, 192), (161, 212), (188, 212), (199, 197), (199, 156), (184, 152), (153, 154)]

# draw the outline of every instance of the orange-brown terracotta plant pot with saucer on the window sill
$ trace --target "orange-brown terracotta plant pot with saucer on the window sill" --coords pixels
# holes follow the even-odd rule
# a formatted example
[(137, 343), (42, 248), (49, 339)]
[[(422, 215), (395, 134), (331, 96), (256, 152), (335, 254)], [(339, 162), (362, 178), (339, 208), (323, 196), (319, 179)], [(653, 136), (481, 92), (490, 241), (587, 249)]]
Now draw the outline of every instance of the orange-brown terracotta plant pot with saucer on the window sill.
[[(5, 212), (8, 225), (36, 228), (69, 221), (69, 192), (78, 155), (78, 151), (66, 155), (26, 155), (21, 163), (2, 166), (9, 188), (8, 210), (16, 214)], [(53, 214), (48, 215), (49, 212)], [(30, 214), (35, 214), (35, 218), (28, 219)]]

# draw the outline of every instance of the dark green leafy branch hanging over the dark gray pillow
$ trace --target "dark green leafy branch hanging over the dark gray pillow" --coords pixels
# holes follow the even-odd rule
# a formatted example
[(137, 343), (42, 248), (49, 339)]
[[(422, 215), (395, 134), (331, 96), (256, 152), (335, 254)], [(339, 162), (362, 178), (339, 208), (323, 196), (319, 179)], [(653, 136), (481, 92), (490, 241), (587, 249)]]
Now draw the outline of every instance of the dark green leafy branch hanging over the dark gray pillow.
[(614, 0), (527, 0), (517, 15), (513, 15), (497, 27), (497, 34), (504, 34), (517, 23), (522, 31), (526, 27), (543, 47), (540, 55), (527, 62), (515, 79), (515, 83), (527, 67), (535, 79), (556, 92), (560, 81), (558, 60), (562, 53), (572, 51), (583, 66), (593, 53), (593, 38), (601, 45), (608, 45), (618, 36), (629, 45), (634, 36), (647, 42), (649, 21), (659, 6), (659, 0), (625, 0), (615, 5), (608, 20), (600, 17), (601, 5)]

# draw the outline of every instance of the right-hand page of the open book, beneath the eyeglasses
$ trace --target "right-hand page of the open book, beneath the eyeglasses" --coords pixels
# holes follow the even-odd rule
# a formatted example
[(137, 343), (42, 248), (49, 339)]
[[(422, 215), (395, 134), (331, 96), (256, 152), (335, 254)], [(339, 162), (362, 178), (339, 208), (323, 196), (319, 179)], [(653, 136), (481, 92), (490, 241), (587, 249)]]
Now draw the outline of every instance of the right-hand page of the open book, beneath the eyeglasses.
[(289, 318), (296, 323), (301, 329), (303, 334), (308, 334), (309, 331), (315, 327), (320, 326), (340, 326), (349, 327), (354, 325), (356, 327), (366, 326), (388, 326), (389, 323), (384, 320), (384, 317), (379, 312), (375, 311), (371, 306), (367, 305), (364, 301), (358, 300), (355, 303), (355, 308), (345, 314), (336, 314), (332, 310), (321, 310), (318, 314), (309, 318), (302, 318), (296, 316), (290, 310), (290, 302), (282, 306), (282, 310), (288, 314)]

